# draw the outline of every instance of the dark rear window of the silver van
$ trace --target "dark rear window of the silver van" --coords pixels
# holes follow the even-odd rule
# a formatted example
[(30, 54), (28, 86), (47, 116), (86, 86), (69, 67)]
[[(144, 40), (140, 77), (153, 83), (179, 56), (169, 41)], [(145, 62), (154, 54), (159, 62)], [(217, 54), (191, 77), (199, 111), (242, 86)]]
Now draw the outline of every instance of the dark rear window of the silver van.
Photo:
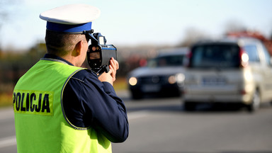
[(237, 45), (199, 45), (193, 47), (191, 67), (239, 67)]

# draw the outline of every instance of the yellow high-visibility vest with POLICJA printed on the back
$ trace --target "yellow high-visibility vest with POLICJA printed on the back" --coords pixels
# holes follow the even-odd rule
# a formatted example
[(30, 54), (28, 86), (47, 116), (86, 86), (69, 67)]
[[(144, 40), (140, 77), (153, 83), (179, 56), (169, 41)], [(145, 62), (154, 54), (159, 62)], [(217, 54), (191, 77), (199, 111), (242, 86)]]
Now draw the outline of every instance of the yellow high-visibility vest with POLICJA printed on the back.
[(69, 123), (63, 107), (65, 85), (81, 67), (40, 60), (13, 91), (18, 152), (111, 152), (111, 142), (93, 128)]

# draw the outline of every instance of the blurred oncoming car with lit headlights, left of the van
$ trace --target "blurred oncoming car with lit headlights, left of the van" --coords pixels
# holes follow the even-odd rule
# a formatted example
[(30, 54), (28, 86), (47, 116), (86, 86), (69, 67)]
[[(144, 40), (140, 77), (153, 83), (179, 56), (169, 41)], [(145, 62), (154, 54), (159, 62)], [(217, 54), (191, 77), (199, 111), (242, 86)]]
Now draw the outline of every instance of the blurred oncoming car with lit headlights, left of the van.
[(160, 96), (181, 94), (184, 81), (183, 59), (187, 50), (161, 54), (128, 74), (132, 98), (139, 99), (146, 94)]

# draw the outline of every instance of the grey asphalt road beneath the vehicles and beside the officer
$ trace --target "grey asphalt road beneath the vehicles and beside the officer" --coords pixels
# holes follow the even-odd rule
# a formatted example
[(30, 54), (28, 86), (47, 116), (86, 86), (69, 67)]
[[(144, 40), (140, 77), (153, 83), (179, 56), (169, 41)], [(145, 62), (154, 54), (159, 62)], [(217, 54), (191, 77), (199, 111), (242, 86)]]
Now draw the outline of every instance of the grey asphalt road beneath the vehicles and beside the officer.
[[(200, 106), (185, 112), (181, 98), (149, 97), (132, 101), (118, 93), (128, 108), (130, 135), (113, 144), (115, 153), (272, 152), (272, 107), (254, 113), (243, 109)], [(11, 108), (0, 108), (0, 153), (16, 152)]]

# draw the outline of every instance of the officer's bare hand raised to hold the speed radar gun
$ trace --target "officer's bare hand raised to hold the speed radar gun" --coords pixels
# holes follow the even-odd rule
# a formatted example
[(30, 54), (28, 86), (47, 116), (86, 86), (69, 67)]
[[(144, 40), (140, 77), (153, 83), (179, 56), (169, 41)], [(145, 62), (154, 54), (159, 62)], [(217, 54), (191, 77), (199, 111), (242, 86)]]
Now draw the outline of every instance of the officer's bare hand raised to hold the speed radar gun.
[(117, 62), (117, 60), (114, 60), (113, 58), (111, 58), (109, 68), (110, 68), (110, 71), (108, 73), (104, 72), (103, 74), (101, 74), (100, 77), (98, 77), (98, 79), (100, 81), (107, 81), (108, 83), (113, 85), (113, 82), (116, 79), (115, 78), (116, 71), (119, 69), (119, 63)]

